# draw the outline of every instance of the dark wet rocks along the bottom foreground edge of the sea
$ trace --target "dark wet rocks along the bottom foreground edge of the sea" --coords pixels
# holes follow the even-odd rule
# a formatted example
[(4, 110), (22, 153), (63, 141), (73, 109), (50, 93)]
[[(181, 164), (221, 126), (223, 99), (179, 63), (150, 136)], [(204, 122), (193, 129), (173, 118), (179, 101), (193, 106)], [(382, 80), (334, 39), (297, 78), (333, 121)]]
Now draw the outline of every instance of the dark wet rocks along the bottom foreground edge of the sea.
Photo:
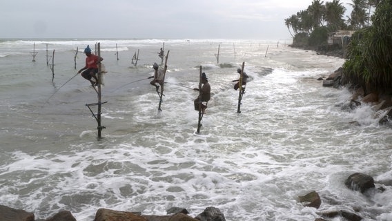
[[(377, 184), (373, 177), (363, 173), (353, 173), (344, 181), (345, 186), (352, 191), (358, 191), (365, 198), (371, 198), (375, 193), (383, 193), (384, 186), (391, 186), (392, 180), (379, 180)], [(376, 186), (377, 185), (377, 186)], [(370, 200), (370, 199), (369, 199)], [(345, 218), (349, 221), (359, 221), (363, 218), (357, 212), (363, 211), (362, 208), (352, 205), (340, 205), (338, 199), (333, 199), (331, 195), (321, 195), (316, 191), (308, 191), (306, 195), (298, 196), (298, 202), (303, 206), (319, 209), (321, 204), (330, 204), (332, 207), (344, 207), (330, 211), (316, 211), (320, 218), (315, 221), (326, 221), (335, 218)], [(337, 205), (337, 206), (336, 206)], [(355, 205), (355, 202), (353, 202)], [(111, 209), (98, 209), (94, 221), (226, 221), (224, 213), (216, 207), (210, 206), (195, 218), (188, 215), (184, 208), (173, 207), (166, 211), (168, 215), (142, 215), (139, 212), (115, 211)], [(311, 211), (309, 211), (311, 213)], [(369, 219), (369, 218), (368, 218)], [(376, 218), (372, 217), (372, 220)], [(8, 206), (0, 205), (1, 221), (81, 221), (76, 220), (70, 211), (59, 211), (51, 218), (35, 220), (34, 213), (29, 213), (21, 209), (12, 209)], [(234, 220), (233, 220), (234, 221)]]

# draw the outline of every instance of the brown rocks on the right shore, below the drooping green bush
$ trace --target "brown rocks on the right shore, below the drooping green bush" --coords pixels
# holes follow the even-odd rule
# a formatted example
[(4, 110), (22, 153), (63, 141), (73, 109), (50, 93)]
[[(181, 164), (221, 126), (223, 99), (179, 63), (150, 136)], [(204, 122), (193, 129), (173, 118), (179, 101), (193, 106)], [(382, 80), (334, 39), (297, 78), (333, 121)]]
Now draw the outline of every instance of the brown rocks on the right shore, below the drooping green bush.
[[(322, 81), (322, 86), (325, 87), (333, 87), (333, 88), (342, 88), (342, 72), (343, 68), (338, 68), (335, 70), (334, 73), (326, 77), (320, 77), (317, 80)], [(380, 124), (390, 124), (392, 119), (392, 95), (391, 93), (368, 93), (365, 95), (364, 88), (356, 88), (352, 90), (353, 96), (351, 100), (347, 103), (342, 105), (342, 110), (344, 111), (352, 111), (355, 108), (361, 106), (362, 103), (364, 104), (371, 104), (373, 111), (375, 113), (385, 113), (382, 117), (380, 117), (379, 123)], [(352, 122), (355, 124), (359, 124), (358, 122)]]

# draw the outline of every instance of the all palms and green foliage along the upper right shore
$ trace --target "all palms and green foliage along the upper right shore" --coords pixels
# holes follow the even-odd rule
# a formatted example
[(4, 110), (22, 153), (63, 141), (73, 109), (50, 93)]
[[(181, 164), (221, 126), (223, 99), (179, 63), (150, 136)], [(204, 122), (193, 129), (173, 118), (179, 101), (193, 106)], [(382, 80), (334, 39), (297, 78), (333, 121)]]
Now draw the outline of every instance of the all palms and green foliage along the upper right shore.
[(327, 45), (329, 33), (354, 30), (342, 83), (362, 87), (365, 94), (392, 93), (392, 0), (352, 0), (349, 5), (353, 10), (346, 19), (340, 0), (313, 0), (306, 10), (285, 19), (293, 46)]

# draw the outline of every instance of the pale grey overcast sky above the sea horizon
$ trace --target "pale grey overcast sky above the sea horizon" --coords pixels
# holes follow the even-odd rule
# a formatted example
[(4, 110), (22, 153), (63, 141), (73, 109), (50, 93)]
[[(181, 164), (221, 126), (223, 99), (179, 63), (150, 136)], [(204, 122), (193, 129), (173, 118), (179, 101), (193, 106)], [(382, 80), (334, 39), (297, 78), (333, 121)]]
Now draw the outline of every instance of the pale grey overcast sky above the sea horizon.
[[(340, 2), (351, 11), (347, 4), (351, 0)], [(0, 0), (0, 38), (291, 39), (284, 19), (306, 10), (311, 3)]]

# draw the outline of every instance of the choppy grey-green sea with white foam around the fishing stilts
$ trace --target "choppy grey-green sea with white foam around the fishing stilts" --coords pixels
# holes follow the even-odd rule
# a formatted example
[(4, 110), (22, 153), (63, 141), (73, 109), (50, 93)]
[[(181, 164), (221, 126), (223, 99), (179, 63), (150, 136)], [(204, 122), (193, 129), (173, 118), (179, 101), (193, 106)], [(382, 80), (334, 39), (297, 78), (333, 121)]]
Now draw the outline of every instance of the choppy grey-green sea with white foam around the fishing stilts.
[[(71, 79), (84, 66), (79, 52), (75, 70), (76, 48), (97, 42), (108, 71), (102, 139), (86, 107), (97, 93), (81, 76)], [(163, 43), (170, 53), (157, 111), (147, 77)], [(232, 80), (243, 61), (250, 79), (237, 113)], [(314, 220), (317, 211), (354, 208), (366, 220), (392, 220), (391, 186), (368, 196), (344, 186), (355, 172), (392, 180), (392, 135), (378, 124), (382, 113), (342, 111), (350, 93), (316, 80), (343, 63), (284, 41), (3, 39), (0, 204), (36, 218), (69, 210), (78, 221), (99, 208), (165, 215), (173, 206), (193, 216), (215, 206), (226, 220)], [(199, 66), (213, 95), (196, 133)], [(319, 210), (297, 201), (313, 190)]]

